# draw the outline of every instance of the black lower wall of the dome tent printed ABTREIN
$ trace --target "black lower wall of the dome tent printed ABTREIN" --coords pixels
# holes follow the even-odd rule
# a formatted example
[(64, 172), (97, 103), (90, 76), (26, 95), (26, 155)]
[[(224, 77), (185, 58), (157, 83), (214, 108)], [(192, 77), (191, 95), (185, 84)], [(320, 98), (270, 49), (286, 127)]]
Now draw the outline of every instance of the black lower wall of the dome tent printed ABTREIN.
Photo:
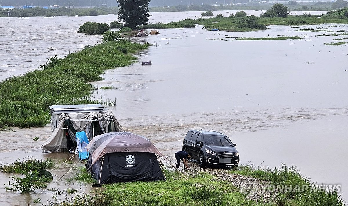
[[(90, 158), (88, 159), (90, 161)], [(165, 177), (156, 155), (148, 152), (117, 152), (105, 154), (92, 167), (86, 168), (98, 184), (134, 181), (159, 181)]]

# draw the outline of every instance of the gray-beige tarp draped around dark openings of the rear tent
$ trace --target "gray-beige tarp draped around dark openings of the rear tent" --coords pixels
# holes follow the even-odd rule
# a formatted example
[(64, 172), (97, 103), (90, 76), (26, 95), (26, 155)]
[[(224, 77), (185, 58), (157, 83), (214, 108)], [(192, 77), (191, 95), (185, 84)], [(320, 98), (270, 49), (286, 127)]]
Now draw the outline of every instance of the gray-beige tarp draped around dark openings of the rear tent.
[[(68, 150), (66, 143), (65, 143), (65, 130), (64, 128), (64, 121), (65, 120), (78, 120), (78, 121), (71, 121), (74, 129), (76, 132), (79, 131), (89, 131), (93, 121), (91, 120), (97, 120), (100, 125), (103, 125), (101, 130), (103, 133), (105, 133), (106, 129), (108, 128), (108, 125), (110, 124), (110, 121), (114, 122), (114, 125), (116, 127), (116, 131), (124, 131), (121, 124), (117, 121), (116, 117), (113, 116), (113, 114), (108, 111), (104, 114), (99, 112), (92, 112), (92, 113), (63, 113), (60, 115), (61, 121), (59, 122), (57, 128), (53, 131), (53, 133), (48, 137), (46, 142), (41, 145), (41, 149), (45, 151), (50, 152), (62, 152), (63, 150)], [(112, 119), (112, 120), (110, 120)], [(83, 121), (81, 121), (83, 120)], [(70, 133), (70, 132), (69, 132)], [(88, 133), (88, 132), (87, 132)], [(73, 138), (75, 138), (75, 134), (71, 134)], [(89, 138), (89, 137), (88, 137)]]

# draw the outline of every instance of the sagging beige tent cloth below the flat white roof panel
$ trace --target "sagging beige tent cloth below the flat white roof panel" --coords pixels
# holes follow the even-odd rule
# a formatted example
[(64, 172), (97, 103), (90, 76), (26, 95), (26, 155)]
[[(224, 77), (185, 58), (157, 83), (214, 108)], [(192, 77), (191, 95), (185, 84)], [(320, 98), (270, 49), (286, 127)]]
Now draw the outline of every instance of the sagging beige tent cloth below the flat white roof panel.
[[(75, 142), (76, 132), (86, 131), (87, 137), (93, 138), (100, 133), (110, 132), (109, 126), (111, 123), (113, 124), (111, 131), (124, 131), (121, 124), (110, 111), (104, 113), (63, 113), (60, 115), (60, 122), (57, 128), (48, 137), (46, 142), (41, 145), (41, 149), (50, 152), (68, 151), (65, 139), (66, 132), (69, 133), (71, 140)], [(64, 129), (64, 126), (68, 129)]]

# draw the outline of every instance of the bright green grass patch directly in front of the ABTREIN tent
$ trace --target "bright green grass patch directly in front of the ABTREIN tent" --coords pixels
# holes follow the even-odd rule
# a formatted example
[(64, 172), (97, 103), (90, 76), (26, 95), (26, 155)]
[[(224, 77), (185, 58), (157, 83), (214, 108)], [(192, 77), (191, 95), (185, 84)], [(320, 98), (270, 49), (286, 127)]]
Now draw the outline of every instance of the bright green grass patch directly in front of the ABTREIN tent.
[[(50, 206), (68, 205), (105, 205), (110, 206), (271, 206), (245, 199), (239, 188), (226, 181), (210, 181), (214, 176), (201, 173), (207, 178), (196, 175), (187, 177), (182, 173), (165, 170), (167, 181), (128, 182), (103, 185), (103, 192), (95, 197), (77, 195), (70, 200), (50, 202)], [(191, 175), (190, 175), (191, 176)], [(88, 202), (94, 200), (93, 204)], [(85, 204), (84, 204), (85, 203)]]

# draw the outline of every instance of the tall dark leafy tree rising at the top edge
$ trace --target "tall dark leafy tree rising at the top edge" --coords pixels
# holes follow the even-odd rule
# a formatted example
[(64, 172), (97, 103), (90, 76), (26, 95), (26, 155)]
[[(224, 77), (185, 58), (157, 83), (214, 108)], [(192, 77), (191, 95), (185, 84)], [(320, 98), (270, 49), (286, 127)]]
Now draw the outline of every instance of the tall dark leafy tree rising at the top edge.
[(125, 26), (136, 29), (149, 21), (150, 0), (117, 0), (117, 2), (120, 8), (118, 21), (123, 21)]

